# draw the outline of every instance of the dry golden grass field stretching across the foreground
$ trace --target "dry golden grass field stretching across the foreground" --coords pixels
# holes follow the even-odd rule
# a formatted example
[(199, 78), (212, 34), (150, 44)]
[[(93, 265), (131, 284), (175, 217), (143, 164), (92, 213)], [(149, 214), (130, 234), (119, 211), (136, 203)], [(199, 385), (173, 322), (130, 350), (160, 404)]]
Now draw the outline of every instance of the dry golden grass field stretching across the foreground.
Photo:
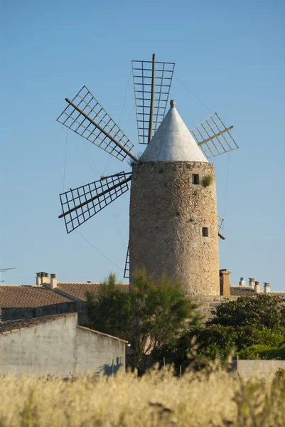
[(242, 383), (234, 374), (154, 369), (141, 379), (0, 379), (0, 427), (285, 426), (282, 380)]

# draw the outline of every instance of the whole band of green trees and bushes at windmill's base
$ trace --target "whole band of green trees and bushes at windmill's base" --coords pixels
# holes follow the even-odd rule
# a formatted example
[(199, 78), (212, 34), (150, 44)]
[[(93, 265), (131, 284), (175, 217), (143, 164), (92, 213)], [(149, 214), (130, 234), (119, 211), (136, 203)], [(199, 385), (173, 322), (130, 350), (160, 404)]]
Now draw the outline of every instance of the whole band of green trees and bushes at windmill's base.
[(115, 282), (111, 274), (99, 295), (88, 295), (88, 326), (127, 339), (138, 363), (151, 354), (178, 373), (205, 368), (217, 357), (222, 363), (235, 355), (285, 359), (283, 298), (260, 294), (224, 302), (203, 325), (181, 285), (166, 276), (154, 281), (141, 272), (129, 293)]

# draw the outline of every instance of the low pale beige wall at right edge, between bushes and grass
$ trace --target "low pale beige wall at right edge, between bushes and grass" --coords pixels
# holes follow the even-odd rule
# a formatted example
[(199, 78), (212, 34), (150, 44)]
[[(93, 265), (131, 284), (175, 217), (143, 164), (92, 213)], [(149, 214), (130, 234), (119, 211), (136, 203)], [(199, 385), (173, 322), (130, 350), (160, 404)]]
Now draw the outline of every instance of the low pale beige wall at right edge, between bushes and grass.
[(237, 373), (243, 379), (250, 376), (265, 378), (274, 375), (280, 368), (285, 369), (285, 360), (237, 360)]

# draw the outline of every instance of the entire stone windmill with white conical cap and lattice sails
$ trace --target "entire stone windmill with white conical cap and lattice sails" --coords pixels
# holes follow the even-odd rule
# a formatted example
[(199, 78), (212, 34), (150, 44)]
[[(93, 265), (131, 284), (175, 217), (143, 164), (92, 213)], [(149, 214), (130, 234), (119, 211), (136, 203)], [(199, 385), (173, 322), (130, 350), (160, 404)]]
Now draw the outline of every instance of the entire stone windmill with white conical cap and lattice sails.
[[(125, 273), (145, 267), (158, 275), (181, 277), (185, 292), (218, 295), (218, 249), (222, 218), (217, 216), (215, 173), (208, 159), (237, 149), (217, 113), (191, 132), (175, 101), (166, 115), (174, 63), (133, 60), (136, 123), (140, 159), (134, 144), (85, 86), (58, 122), (113, 157), (131, 159), (132, 172), (101, 176), (60, 194), (65, 228), (75, 230), (129, 189), (130, 236)], [(218, 227), (218, 231), (217, 231)], [(215, 229), (215, 231), (214, 231)], [(201, 283), (207, 283), (201, 285)]]

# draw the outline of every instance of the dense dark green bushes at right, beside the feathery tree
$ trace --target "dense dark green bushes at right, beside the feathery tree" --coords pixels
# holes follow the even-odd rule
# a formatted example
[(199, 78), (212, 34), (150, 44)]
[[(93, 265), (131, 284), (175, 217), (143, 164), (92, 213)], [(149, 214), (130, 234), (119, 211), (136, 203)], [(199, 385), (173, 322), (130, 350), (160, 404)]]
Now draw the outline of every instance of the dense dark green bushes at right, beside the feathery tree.
[(223, 363), (234, 354), (240, 359), (285, 359), (284, 344), (284, 299), (260, 294), (222, 303), (205, 325), (190, 327), (171, 345), (161, 347), (156, 358), (174, 362), (177, 370), (193, 364), (200, 369), (216, 357)]

